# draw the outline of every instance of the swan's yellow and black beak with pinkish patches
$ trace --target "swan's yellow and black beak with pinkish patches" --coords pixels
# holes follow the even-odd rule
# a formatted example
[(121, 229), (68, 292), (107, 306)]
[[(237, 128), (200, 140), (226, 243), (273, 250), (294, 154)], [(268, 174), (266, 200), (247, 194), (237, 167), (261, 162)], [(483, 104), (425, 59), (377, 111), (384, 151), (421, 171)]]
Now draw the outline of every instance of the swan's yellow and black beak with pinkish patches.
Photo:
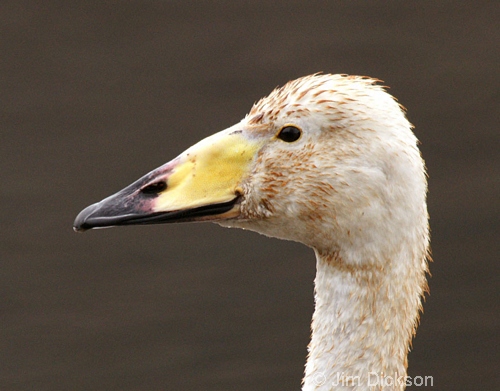
[(125, 189), (82, 210), (74, 230), (237, 218), (241, 184), (261, 146), (236, 127), (207, 137)]

